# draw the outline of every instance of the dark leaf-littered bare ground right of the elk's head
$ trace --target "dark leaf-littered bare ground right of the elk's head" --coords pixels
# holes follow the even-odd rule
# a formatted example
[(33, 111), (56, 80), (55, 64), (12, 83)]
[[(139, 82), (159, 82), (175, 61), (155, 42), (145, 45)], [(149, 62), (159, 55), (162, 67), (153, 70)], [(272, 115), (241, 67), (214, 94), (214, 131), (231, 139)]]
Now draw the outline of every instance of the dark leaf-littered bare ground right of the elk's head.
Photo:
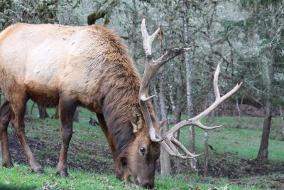
[[(214, 154), (217, 154), (216, 152)], [(226, 159), (224, 159), (226, 158)], [(172, 174), (177, 174), (175, 159), (171, 159)], [(197, 161), (198, 173), (202, 176), (204, 165)], [(160, 164), (157, 162), (160, 171)], [(217, 154), (217, 159), (208, 161), (210, 178), (197, 179), (198, 182), (207, 184), (219, 184), (219, 177), (228, 178), (230, 184), (242, 186), (257, 186), (267, 189), (284, 189), (284, 162), (260, 163), (253, 159), (239, 159), (235, 154)], [(190, 172), (190, 160), (182, 161), (182, 171)], [(213, 177), (213, 178), (212, 178)], [(189, 176), (192, 180), (191, 176)], [(246, 180), (247, 178), (247, 180)], [(265, 179), (261, 180), (261, 179)]]

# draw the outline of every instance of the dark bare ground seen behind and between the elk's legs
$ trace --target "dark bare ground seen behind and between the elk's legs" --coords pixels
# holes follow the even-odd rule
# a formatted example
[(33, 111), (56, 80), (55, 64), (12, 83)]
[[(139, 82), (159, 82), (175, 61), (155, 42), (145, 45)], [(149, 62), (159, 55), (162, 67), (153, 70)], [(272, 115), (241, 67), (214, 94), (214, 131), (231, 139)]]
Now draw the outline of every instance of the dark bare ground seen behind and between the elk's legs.
[[(16, 133), (9, 132), (8, 139), (13, 163), (28, 165), (28, 160), (21, 144), (18, 142)], [(50, 142), (48, 139), (28, 138), (28, 144), (40, 164), (46, 167), (57, 167), (61, 148), (60, 139), (58, 139), (58, 142)], [(82, 157), (80, 157), (81, 154)], [(87, 144), (80, 144), (80, 142), (72, 142), (71, 140), (67, 162), (69, 169), (104, 174), (114, 172), (111, 151), (107, 143), (96, 144), (95, 137)]]

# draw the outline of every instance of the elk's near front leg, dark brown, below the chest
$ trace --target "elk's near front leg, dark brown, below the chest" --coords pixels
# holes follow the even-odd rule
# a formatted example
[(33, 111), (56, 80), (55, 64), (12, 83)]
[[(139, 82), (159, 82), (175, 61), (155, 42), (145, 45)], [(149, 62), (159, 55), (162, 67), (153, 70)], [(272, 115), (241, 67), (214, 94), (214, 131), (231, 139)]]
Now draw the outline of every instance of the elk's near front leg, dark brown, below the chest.
[(72, 137), (72, 120), (77, 107), (77, 102), (74, 100), (66, 100), (65, 97), (60, 97), (59, 100), (59, 117), (61, 122), (61, 137), (62, 144), (60, 150), (60, 158), (58, 162), (58, 169), (56, 171), (60, 176), (68, 176), (67, 171), (67, 151), (69, 142)]

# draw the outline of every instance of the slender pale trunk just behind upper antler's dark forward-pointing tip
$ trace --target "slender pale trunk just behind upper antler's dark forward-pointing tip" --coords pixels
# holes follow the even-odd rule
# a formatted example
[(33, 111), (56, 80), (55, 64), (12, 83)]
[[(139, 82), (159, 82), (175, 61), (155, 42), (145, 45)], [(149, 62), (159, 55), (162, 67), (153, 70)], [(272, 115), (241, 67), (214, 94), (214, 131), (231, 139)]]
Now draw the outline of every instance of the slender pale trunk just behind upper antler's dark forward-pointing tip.
[[(184, 19), (183, 19), (183, 31), (184, 31), (184, 39), (185, 39), (185, 47), (190, 47), (190, 32), (188, 27), (188, 4), (186, 0), (183, 0), (183, 11), (184, 11)], [(187, 73), (187, 115), (188, 118), (192, 117), (193, 110), (192, 110), (192, 85), (191, 85), (191, 78), (192, 78), (192, 66), (190, 63), (190, 53), (188, 51), (185, 52), (185, 67)], [(189, 137), (190, 137), (190, 147), (189, 150), (192, 153), (195, 153), (195, 128), (190, 126), (189, 130)], [(197, 160), (191, 159), (190, 165), (192, 169), (197, 170)]]

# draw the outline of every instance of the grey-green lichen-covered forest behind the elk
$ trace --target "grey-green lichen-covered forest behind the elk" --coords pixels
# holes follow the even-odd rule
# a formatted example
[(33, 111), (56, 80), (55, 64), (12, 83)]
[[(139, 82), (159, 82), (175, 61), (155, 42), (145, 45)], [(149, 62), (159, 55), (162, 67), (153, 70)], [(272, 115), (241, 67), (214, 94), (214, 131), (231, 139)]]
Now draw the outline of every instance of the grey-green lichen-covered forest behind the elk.
[[(283, 1), (0, 0), (0, 31), (17, 22), (104, 25), (124, 38), (141, 74), (144, 52), (140, 26), (143, 18), (147, 19), (150, 33), (159, 24), (163, 26), (165, 48), (191, 48), (184, 56), (165, 65), (152, 81), (150, 92), (155, 95), (155, 110), (160, 120), (168, 120), (163, 130), (182, 120), (182, 115), (197, 115), (214, 102), (214, 70), (222, 63), (219, 76), (222, 93), (236, 83), (243, 85), (236, 95), (211, 112), (206, 122), (215, 125), (215, 117), (234, 116), (238, 118), (234, 127), (241, 129), (243, 117), (260, 117), (263, 128), (254, 159), (258, 163), (268, 162), (269, 140), (277, 136), (271, 137), (274, 118), (280, 118), (275, 130), (277, 138), (284, 139)], [(158, 57), (161, 51), (158, 42), (153, 44), (153, 51), (154, 57)], [(195, 152), (195, 129), (190, 127), (185, 132), (188, 134), (186, 143)], [(210, 133), (205, 131), (205, 160), (208, 146), (211, 146), (208, 135)], [(161, 160), (164, 162), (160, 164), (160, 171), (164, 176), (173, 172), (171, 165), (175, 165), (176, 172), (182, 172), (184, 167), (199, 170), (195, 159), (186, 166), (173, 158), (170, 163), (166, 155)], [(205, 163), (202, 163), (202, 172), (206, 176)]]

